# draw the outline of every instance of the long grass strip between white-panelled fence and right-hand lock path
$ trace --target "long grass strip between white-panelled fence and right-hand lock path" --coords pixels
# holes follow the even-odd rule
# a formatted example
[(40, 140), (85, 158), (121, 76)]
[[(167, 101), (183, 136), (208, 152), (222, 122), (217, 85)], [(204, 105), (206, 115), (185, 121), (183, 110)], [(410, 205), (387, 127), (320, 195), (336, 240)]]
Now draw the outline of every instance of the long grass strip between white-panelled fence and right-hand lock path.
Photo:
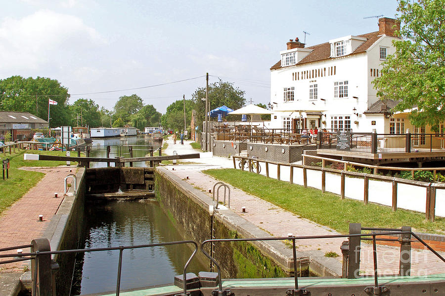
[(333, 193), (321, 193), (318, 189), (270, 179), (262, 175), (235, 169), (206, 170), (204, 173), (258, 196), (274, 205), (303, 218), (329, 226), (341, 233), (349, 232), (349, 223), (361, 223), (363, 227), (399, 228), (411, 226), (416, 231), (445, 233), (445, 218), (435, 222), (425, 220), (425, 215), (377, 204), (344, 199)]

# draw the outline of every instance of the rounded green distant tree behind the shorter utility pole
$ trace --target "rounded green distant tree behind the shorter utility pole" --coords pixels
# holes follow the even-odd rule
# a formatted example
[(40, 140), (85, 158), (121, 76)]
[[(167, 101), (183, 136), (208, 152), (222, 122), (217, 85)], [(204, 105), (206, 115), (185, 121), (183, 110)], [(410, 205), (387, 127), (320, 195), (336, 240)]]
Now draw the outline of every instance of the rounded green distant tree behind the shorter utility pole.
[[(185, 127), (190, 125), (191, 112), (194, 103), (185, 100)], [(162, 127), (171, 128), (175, 131), (184, 130), (184, 100), (178, 100), (167, 107), (167, 111), (161, 117)]]

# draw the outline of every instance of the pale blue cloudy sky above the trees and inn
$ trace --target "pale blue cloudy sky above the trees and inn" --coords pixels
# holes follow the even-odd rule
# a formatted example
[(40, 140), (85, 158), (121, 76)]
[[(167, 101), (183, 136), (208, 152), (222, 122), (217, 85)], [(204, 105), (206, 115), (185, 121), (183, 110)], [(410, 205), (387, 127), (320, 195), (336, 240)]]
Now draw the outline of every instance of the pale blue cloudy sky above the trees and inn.
[[(164, 113), (222, 79), (270, 101), (270, 67), (289, 39), (307, 46), (378, 31), (396, 0), (0, 0), (0, 79), (56, 79), (73, 104), (112, 111), (136, 94)], [(180, 82), (176, 82), (180, 81)], [(174, 83), (172, 83), (174, 82)], [(137, 89), (136, 89), (137, 88)]]

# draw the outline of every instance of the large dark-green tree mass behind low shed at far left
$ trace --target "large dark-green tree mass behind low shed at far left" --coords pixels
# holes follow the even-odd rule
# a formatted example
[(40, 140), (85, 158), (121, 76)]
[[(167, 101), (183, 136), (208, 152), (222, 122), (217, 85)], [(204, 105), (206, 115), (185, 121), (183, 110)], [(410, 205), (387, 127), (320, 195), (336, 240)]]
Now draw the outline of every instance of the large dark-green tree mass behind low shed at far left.
[(48, 100), (51, 105), (50, 126), (67, 125), (71, 122), (68, 110), (68, 88), (59, 81), (45, 77), (11, 76), (0, 80), (0, 109), (3, 111), (30, 112), (42, 119), (48, 119)]

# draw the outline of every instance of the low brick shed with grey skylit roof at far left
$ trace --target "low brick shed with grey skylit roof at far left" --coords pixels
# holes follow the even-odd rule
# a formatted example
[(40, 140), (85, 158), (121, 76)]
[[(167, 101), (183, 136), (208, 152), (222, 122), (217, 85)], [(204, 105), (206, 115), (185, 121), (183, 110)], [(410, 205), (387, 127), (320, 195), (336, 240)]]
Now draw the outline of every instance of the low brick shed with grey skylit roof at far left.
[(47, 129), (48, 121), (37, 117), (30, 112), (0, 111), (0, 139), (10, 132), (12, 141), (29, 141), (36, 129)]

